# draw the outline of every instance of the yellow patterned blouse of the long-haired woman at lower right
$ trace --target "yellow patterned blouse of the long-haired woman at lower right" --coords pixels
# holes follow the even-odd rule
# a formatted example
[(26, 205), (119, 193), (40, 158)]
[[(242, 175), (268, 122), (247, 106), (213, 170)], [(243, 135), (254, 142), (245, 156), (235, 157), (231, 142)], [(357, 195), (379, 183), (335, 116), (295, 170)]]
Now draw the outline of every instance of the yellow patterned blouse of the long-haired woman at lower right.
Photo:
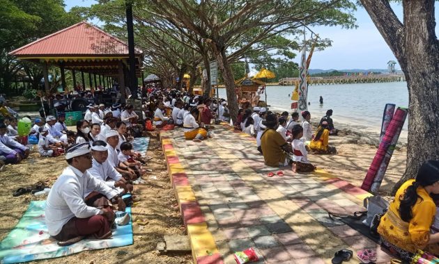
[(430, 253), (438, 254), (439, 247), (436, 245), (427, 247), (430, 240), (430, 226), (436, 215), (436, 205), (423, 187), (417, 188), (417, 195), (422, 199), (418, 198), (413, 206), (413, 218), (410, 222), (404, 222), (399, 215), (400, 199), (413, 181), (415, 180), (406, 181), (396, 192), (387, 213), (381, 217), (378, 233), (388, 242), (406, 251), (415, 253), (417, 249), (426, 249)]

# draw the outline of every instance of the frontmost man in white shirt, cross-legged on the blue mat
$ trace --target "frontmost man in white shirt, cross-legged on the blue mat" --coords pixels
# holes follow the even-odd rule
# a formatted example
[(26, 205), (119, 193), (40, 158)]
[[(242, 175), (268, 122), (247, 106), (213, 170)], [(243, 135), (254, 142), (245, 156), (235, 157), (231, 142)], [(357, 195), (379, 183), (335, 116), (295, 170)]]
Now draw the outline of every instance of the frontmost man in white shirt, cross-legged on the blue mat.
[(96, 190), (104, 194), (114, 204), (123, 208), (123, 200), (118, 192), (103, 181), (91, 176), (90, 145), (88, 142), (72, 145), (67, 150), (68, 167), (55, 181), (47, 196), (45, 221), (50, 236), (59, 240), (59, 245), (71, 245), (85, 236), (98, 239), (111, 237), (111, 223), (114, 212), (110, 206), (101, 209), (87, 206), (84, 201), (86, 190)]

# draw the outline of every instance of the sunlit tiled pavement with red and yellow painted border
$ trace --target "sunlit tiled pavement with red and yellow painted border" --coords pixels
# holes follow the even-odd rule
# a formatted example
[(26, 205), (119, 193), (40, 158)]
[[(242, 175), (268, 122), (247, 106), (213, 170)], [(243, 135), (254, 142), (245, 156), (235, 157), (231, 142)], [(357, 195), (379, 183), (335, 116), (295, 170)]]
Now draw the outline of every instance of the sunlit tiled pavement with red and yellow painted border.
[[(215, 127), (215, 138), (185, 140), (162, 131), (162, 146), (196, 263), (236, 263), (254, 247), (259, 263), (331, 263), (339, 249), (373, 248), (376, 263), (390, 256), (327, 211), (363, 211), (369, 193), (323, 171), (268, 178), (253, 138)], [(359, 263), (355, 256), (349, 262)]]

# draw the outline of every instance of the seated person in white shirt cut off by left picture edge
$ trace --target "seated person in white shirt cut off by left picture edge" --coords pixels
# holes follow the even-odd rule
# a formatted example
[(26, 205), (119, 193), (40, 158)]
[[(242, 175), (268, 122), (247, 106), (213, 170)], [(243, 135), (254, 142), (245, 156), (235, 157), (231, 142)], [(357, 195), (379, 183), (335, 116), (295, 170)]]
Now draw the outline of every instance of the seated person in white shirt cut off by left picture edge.
[(5, 163), (20, 163), (29, 156), (29, 149), (6, 135), (6, 124), (0, 123), (0, 156), (6, 158)]

